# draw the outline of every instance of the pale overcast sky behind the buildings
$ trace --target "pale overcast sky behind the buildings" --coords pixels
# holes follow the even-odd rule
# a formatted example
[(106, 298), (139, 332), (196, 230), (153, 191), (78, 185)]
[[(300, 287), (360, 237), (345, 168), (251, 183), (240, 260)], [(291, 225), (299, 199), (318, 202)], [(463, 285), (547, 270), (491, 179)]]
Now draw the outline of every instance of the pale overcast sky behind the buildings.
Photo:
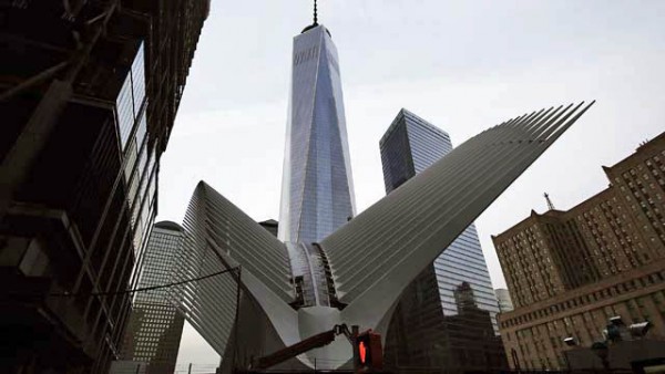
[[(478, 219), (494, 288), (498, 235), (607, 187), (602, 165), (665, 131), (665, 1), (319, 1), (339, 53), (358, 212), (385, 196), (379, 138), (406, 107), (459, 145), (553, 105), (596, 104)], [(278, 218), (293, 37), (309, 0), (213, 0), (161, 159), (158, 220), (207, 181), (257, 221)], [(178, 364), (219, 356), (188, 325)]]

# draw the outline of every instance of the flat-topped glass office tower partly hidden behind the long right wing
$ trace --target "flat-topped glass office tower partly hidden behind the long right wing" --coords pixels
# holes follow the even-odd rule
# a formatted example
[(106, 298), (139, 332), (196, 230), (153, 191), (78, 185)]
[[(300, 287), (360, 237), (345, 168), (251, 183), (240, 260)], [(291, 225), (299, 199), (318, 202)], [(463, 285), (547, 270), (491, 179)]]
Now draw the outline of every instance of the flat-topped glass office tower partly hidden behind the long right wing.
[[(401, 110), (381, 138), (380, 149), (386, 191), (390, 194), (451, 152), (452, 143), (446, 132)], [(397, 366), (487, 368), (482, 360), (460, 357), (479, 352), (480, 343), (474, 341), (483, 334), (479, 329), (494, 345), (500, 342), (494, 337), (498, 312), (478, 233), (471, 225), (403, 292), (388, 330), (386, 360)], [(483, 316), (487, 321), (480, 321)], [(469, 341), (461, 343), (464, 331)], [(460, 350), (467, 353), (460, 354)], [(503, 355), (500, 349), (490, 351)]]

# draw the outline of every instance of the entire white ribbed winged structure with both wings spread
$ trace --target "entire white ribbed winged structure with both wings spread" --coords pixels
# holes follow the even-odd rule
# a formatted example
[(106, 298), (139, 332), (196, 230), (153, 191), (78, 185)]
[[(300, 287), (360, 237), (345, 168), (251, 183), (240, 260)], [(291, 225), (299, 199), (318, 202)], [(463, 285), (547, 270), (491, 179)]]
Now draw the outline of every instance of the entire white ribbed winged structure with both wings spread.
[[(236, 323), (233, 277), (188, 283), (172, 299), (228, 368), (341, 322), (385, 336), (407, 285), (591, 105), (542, 110), (480, 133), (320, 243), (282, 243), (202, 181), (176, 276), (242, 266), (241, 313)], [(269, 332), (258, 339), (258, 326)], [(338, 368), (351, 355), (338, 340), (282, 367), (316, 360), (319, 368)]]

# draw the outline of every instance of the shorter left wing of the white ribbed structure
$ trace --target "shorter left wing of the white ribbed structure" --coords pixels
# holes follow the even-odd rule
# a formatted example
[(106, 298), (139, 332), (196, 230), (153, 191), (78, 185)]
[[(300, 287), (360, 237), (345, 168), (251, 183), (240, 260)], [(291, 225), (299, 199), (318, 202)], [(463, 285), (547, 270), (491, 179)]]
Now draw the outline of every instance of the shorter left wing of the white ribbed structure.
[[(296, 322), (296, 312), (288, 307), (294, 300), (294, 288), (289, 282), (289, 258), (283, 242), (204, 181), (194, 190), (183, 227), (185, 240), (176, 261), (174, 281), (204, 277), (241, 264), (243, 289), (248, 291), (245, 293), (255, 295), (262, 308), (273, 309), (275, 313), (269, 315), (278, 319), (279, 324), (287, 320)], [(168, 297), (208, 344), (224, 354), (236, 319), (234, 273), (178, 285), (171, 289)], [(278, 310), (286, 314), (277, 313)], [(295, 339), (290, 337), (291, 341)]]

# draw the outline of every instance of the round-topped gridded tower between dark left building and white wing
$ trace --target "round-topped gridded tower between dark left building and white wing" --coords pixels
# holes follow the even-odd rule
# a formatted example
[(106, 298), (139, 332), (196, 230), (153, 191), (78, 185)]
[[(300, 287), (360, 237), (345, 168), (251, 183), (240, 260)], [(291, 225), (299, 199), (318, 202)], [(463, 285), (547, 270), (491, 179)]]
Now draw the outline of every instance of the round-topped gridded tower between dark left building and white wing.
[[(150, 288), (173, 281), (174, 261), (184, 237), (183, 228), (171, 221), (155, 224), (145, 249), (139, 288)], [(134, 298), (132, 314), (121, 350), (121, 360), (112, 373), (132, 367), (146, 368), (151, 374), (171, 374), (183, 333), (183, 315), (167, 298), (166, 290), (140, 292)]]

